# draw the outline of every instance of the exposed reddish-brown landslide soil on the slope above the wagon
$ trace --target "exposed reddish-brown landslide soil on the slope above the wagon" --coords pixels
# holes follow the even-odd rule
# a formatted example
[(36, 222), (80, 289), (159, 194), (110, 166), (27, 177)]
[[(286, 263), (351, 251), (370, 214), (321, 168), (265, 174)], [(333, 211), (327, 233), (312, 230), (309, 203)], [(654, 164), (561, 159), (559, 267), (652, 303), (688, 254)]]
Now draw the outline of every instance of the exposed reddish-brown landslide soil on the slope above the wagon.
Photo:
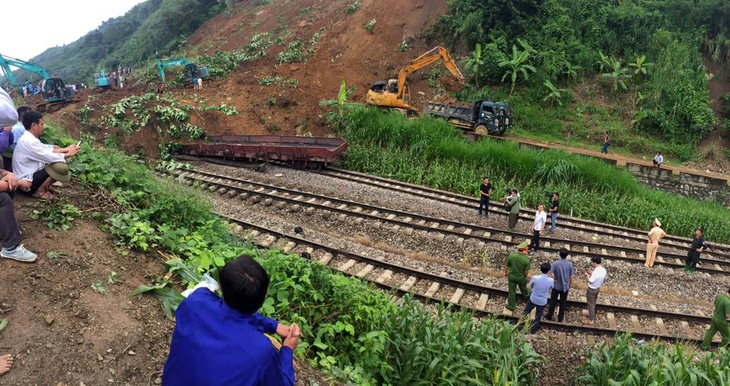
[[(319, 102), (336, 99), (343, 80), (348, 87), (357, 87), (352, 99), (364, 102), (374, 81), (395, 77), (403, 65), (438, 44), (427, 42), (426, 35), (446, 12), (446, 0), (363, 0), (351, 13), (347, 7), (355, 1), (300, 0), (296, 7), (283, 2), (253, 7), (252, 3), (244, 1), (215, 17), (189, 39), (200, 49), (198, 53), (212, 54), (216, 49), (241, 49), (256, 34), (270, 33), (274, 39), (286, 36), (269, 47), (265, 58), (244, 63), (230, 76), (204, 87), (202, 96), (230, 98), (226, 103), (240, 112), (205, 122), (209, 134), (330, 134), (322, 118), (326, 109)], [(364, 26), (372, 20), (371, 33)], [(313, 52), (301, 63), (277, 64), (277, 56), (295, 40)], [(429, 72), (437, 68), (442, 67), (435, 64), (409, 78), (416, 106), (445, 94), (438, 85), (429, 87)], [(295, 79), (290, 82), (296, 86), (261, 84), (262, 79), (275, 76)]]

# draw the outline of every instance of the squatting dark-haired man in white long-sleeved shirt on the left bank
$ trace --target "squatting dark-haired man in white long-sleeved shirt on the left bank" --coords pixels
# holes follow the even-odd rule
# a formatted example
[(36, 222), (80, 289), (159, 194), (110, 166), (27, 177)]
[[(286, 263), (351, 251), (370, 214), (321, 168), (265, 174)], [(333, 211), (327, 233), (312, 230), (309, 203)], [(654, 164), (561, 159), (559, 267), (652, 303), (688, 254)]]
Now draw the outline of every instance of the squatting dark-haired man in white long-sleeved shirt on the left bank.
[(18, 144), (15, 146), (13, 171), (18, 179), (31, 182), (26, 193), (35, 198), (50, 200), (53, 198), (50, 187), (56, 180), (48, 174), (46, 166), (57, 162), (65, 164), (66, 159), (75, 156), (80, 147), (71, 145), (64, 148), (49, 148), (41, 143), (39, 138), (43, 135), (45, 126), (43, 115), (38, 112), (26, 113), (23, 126), (26, 132), (18, 139)]

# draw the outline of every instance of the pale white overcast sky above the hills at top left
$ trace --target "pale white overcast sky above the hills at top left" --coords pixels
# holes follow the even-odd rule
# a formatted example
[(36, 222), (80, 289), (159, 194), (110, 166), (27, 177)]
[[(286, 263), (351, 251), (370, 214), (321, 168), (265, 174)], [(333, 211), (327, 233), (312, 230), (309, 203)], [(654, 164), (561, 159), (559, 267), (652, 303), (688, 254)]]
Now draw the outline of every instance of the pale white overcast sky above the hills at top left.
[(76, 41), (144, 0), (1, 0), (0, 54), (29, 60)]

